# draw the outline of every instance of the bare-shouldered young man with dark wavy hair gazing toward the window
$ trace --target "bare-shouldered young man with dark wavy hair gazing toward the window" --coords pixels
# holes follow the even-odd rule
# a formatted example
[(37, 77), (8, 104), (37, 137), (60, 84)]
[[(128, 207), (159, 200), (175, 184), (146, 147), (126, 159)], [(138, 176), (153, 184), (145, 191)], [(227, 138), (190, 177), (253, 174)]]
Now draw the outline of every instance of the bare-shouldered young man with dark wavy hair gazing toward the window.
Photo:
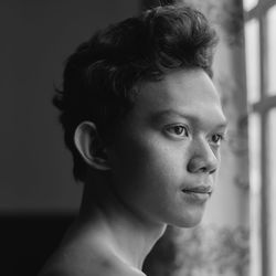
[(215, 42), (200, 12), (168, 6), (97, 32), (70, 56), (54, 103), (84, 197), (41, 276), (145, 275), (168, 224), (201, 221), (225, 132)]

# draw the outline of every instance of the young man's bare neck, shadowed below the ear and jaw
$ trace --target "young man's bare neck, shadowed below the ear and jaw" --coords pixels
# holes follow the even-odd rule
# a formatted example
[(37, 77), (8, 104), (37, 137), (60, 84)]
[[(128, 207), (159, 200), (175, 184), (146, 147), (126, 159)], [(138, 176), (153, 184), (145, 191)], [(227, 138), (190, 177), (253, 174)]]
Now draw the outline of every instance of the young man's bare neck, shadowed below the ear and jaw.
[[(108, 189), (107, 181), (104, 177), (95, 181), (94, 177), (93, 183), (86, 182), (79, 221), (98, 229), (110, 251), (124, 263), (141, 269), (166, 224), (149, 222), (134, 212)], [(95, 189), (94, 183), (100, 189)]]

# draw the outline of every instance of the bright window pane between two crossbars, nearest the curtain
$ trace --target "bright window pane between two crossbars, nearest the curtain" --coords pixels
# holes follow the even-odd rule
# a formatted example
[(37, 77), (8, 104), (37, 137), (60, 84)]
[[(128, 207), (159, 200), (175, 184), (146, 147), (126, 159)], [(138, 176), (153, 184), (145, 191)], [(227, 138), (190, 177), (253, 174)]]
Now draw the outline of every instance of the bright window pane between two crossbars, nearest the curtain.
[(246, 84), (248, 103), (259, 100), (259, 26), (253, 19), (245, 24)]

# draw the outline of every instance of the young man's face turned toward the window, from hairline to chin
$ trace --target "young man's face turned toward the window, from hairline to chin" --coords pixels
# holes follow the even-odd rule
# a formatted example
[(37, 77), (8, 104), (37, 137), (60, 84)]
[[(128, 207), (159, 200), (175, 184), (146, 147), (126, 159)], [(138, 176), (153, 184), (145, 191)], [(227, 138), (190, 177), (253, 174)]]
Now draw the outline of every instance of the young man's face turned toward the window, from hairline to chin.
[(109, 149), (116, 195), (144, 220), (198, 224), (214, 188), (224, 132), (217, 92), (202, 70), (141, 84)]

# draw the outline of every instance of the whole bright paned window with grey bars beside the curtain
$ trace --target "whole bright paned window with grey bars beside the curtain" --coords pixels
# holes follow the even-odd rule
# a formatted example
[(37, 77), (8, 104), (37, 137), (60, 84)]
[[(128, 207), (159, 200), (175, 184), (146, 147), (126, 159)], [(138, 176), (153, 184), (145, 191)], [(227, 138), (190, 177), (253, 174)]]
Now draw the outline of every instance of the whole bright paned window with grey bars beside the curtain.
[(251, 276), (276, 275), (276, 0), (244, 0)]

